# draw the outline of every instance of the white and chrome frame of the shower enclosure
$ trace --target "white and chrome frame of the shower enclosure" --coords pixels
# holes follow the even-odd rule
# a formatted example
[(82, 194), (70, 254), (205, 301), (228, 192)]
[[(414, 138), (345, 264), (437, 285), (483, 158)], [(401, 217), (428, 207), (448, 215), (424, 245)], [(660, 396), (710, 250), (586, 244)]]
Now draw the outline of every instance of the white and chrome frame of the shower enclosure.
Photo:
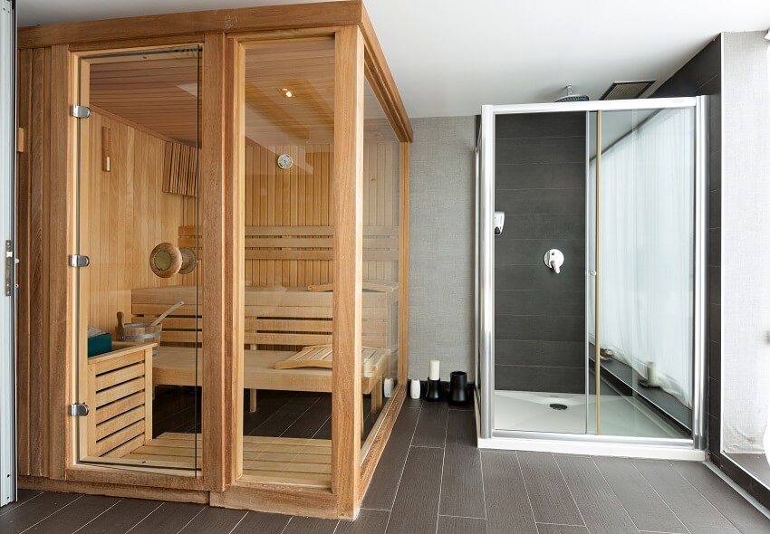
[[(542, 104), (484, 105), (476, 146), (476, 421), (478, 445), (482, 448), (596, 453), (676, 460), (705, 460), (707, 356), (707, 157), (708, 97), (647, 100), (602, 100)], [(495, 119), (497, 115), (578, 111), (586, 114), (586, 145), (590, 143), (591, 112), (693, 108), (695, 110), (695, 176), (693, 239), (693, 405), (692, 437), (650, 438), (603, 434), (561, 434), (495, 427)], [(589, 162), (586, 160), (586, 181)], [(586, 187), (588, 195), (588, 187)], [(586, 221), (588, 213), (586, 196)], [(596, 209), (600, 207), (597, 205)], [(586, 243), (590, 236), (586, 224)], [(588, 259), (588, 248), (586, 248)], [(586, 264), (587, 269), (587, 264)], [(588, 276), (586, 274), (586, 284)], [(590, 298), (586, 293), (586, 299)], [(586, 329), (587, 339), (587, 329)], [(586, 342), (586, 354), (588, 344)], [(586, 357), (588, 361), (588, 358)], [(588, 364), (586, 364), (588, 365)], [(588, 368), (586, 390), (588, 395)], [(479, 387), (478, 384), (481, 386)], [(587, 404), (586, 404), (587, 406)], [(586, 408), (588, 409), (588, 408)]]

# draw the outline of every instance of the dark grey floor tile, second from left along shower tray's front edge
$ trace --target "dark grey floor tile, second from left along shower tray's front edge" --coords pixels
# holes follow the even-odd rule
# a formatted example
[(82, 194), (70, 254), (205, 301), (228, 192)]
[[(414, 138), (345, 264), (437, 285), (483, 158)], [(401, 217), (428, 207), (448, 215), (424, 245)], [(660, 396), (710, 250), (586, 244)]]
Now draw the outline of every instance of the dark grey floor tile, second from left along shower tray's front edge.
[(521, 464), (526, 491), (538, 523), (582, 525), (562, 472), (551, 453), (516, 453)]

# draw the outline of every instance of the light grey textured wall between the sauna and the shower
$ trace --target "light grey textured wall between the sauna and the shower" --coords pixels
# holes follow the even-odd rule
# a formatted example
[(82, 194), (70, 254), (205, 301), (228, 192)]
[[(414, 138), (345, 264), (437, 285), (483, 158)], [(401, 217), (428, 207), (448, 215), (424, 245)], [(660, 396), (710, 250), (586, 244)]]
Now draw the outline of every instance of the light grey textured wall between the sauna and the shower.
[(409, 377), (473, 372), (474, 118), (412, 119)]

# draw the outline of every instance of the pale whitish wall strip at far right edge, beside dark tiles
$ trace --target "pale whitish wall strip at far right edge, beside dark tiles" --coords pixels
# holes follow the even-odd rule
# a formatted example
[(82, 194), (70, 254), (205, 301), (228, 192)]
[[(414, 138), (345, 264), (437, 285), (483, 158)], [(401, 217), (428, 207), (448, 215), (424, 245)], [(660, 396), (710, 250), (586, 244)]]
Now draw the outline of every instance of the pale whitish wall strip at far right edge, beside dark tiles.
[(764, 32), (724, 33), (723, 448), (759, 452), (770, 402), (770, 84)]

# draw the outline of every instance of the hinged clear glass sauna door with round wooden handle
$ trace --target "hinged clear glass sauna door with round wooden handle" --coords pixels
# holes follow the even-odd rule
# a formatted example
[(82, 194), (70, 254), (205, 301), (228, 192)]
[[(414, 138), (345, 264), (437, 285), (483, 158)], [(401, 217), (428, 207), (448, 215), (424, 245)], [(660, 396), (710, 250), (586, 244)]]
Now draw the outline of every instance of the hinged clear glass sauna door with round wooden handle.
[(194, 476), (200, 50), (100, 53), (76, 69), (78, 459)]

